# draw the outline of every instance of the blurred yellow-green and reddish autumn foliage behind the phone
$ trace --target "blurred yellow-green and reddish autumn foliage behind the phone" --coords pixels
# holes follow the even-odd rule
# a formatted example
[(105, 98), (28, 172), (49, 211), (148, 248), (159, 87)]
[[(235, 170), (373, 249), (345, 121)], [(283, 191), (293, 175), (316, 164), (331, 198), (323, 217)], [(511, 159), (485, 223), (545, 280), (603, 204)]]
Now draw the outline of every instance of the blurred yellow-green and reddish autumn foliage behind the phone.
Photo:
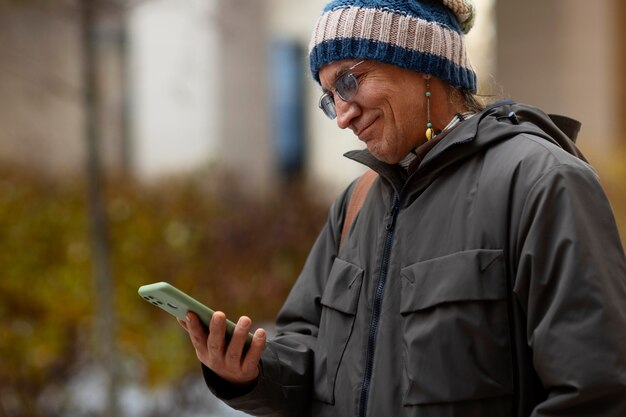
[[(40, 415), (36, 403), (93, 359), (85, 200), (82, 181), (0, 172), (0, 397), (20, 415)], [(252, 198), (214, 172), (109, 180), (105, 200), (118, 354), (132, 378), (153, 385), (198, 363), (176, 321), (137, 288), (169, 281), (230, 317), (271, 321), (327, 211), (301, 184)]]

